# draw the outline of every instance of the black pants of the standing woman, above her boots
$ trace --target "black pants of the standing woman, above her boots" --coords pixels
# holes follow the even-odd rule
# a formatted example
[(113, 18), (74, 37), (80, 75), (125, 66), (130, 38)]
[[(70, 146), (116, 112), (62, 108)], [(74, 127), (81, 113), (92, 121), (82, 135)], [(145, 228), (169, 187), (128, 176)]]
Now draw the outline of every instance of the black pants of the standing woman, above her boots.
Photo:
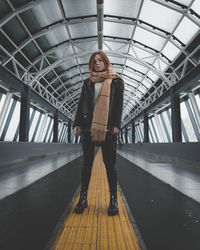
[[(83, 148), (83, 168), (81, 171), (81, 190), (88, 190), (92, 165), (94, 161), (95, 143), (92, 142), (90, 132), (83, 132), (82, 134), (82, 148)], [(117, 191), (117, 171), (116, 171), (116, 135), (111, 132), (106, 133), (106, 139), (101, 144), (103, 161), (106, 167), (107, 177), (110, 192)]]

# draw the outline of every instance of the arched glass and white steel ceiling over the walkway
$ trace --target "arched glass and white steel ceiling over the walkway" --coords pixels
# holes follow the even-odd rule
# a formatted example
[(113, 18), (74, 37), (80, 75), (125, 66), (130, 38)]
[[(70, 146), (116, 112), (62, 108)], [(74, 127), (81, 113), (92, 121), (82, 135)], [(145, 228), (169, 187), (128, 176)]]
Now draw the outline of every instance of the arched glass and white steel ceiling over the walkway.
[(98, 49), (125, 80), (125, 125), (199, 64), (200, 2), (0, 1), (1, 64), (72, 121)]

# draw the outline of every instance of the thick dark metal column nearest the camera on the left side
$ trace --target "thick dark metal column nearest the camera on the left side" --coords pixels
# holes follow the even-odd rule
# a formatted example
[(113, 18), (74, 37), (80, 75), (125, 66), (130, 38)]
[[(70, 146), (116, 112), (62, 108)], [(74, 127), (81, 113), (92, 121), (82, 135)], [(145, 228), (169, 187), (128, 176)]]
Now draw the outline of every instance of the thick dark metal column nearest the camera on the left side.
[(19, 141), (29, 140), (30, 97), (31, 97), (30, 87), (24, 86), (24, 91), (21, 93)]

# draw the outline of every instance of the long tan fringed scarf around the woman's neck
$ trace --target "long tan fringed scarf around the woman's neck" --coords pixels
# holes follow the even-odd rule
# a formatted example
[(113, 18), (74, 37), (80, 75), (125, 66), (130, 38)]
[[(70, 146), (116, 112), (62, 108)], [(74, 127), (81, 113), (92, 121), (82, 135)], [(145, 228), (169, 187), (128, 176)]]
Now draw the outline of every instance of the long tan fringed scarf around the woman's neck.
[(92, 141), (105, 141), (110, 101), (110, 85), (113, 78), (121, 77), (112, 71), (92, 72), (90, 75), (91, 83), (103, 81), (93, 113), (91, 126)]

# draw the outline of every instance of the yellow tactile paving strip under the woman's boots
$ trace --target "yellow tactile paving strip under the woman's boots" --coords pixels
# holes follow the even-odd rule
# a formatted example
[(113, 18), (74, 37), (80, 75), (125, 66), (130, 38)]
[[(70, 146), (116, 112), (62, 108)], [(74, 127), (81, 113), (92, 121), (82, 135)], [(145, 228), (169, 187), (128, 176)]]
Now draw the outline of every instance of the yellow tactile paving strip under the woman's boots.
[(119, 215), (107, 215), (110, 195), (101, 150), (94, 161), (88, 190), (88, 208), (83, 214), (73, 212), (78, 199), (79, 195), (52, 249), (141, 249), (119, 191)]

